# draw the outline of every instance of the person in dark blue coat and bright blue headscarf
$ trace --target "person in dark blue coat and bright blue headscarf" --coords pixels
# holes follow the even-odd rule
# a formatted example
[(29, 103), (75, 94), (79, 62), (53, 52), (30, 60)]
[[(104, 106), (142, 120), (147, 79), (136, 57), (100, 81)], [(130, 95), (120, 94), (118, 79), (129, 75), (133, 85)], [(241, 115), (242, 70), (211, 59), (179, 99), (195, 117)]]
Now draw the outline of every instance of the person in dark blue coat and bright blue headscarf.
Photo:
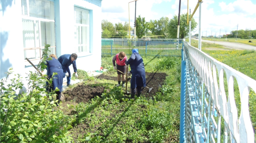
[(146, 87), (146, 73), (145, 67), (143, 63), (143, 59), (139, 55), (138, 49), (132, 50), (132, 55), (129, 60), (126, 62), (126, 65), (130, 65), (131, 71), (128, 73), (131, 77), (131, 97), (130, 99), (134, 99), (136, 88), (137, 88), (137, 96), (141, 95), (141, 87)]

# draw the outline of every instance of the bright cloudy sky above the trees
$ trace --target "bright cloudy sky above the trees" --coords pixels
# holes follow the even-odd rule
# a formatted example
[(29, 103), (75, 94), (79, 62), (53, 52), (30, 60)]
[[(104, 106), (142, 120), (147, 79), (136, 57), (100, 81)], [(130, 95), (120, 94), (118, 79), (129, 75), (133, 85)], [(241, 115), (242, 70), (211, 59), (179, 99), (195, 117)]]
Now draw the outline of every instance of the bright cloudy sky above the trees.
[[(102, 0), (101, 19), (113, 24), (129, 21), (134, 24), (135, 2), (133, 0)], [(129, 8), (128, 8), (128, 3)], [(193, 13), (198, 0), (189, 0), (189, 9)], [(187, 13), (188, 0), (181, 0), (181, 14)], [(201, 32), (206, 35), (229, 34), (237, 29), (256, 30), (256, 0), (203, 0), (201, 4)], [(130, 11), (130, 13), (129, 13)], [(136, 17), (145, 17), (146, 21), (159, 20), (161, 17), (173, 18), (179, 14), (179, 0), (138, 0)], [(199, 7), (194, 16), (199, 22)], [(198, 33), (198, 26), (192, 34)]]

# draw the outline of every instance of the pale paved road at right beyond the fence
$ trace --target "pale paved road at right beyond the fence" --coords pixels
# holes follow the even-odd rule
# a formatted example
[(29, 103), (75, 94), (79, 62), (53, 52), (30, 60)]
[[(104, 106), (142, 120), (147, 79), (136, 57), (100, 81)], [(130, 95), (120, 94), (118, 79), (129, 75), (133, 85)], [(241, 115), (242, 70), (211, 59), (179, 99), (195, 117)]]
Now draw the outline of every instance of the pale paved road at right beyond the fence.
[[(196, 39), (198, 40), (198, 39)], [(214, 41), (202, 40), (202, 42), (214, 43)], [(256, 46), (241, 44), (241, 43), (232, 43), (224, 41), (215, 41), (215, 44), (223, 45), (226, 48), (237, 49), (237, 50), (256, 50)]]

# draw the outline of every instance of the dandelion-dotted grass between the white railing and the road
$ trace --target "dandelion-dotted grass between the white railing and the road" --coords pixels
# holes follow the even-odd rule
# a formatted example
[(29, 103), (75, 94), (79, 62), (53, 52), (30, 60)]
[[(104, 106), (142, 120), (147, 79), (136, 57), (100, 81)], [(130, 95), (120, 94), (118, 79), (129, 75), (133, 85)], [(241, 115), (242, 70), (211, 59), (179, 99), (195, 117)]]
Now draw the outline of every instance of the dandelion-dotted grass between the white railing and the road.
[[(233, 69), (251, 77), (256, 80), (256, 52), (254, 50), (232, 50), (232, 51), (217, 51), (217, 50), (203, 50), (216, 60), (232, 67)], [(224, 85), (226, 95), (228, 94), (227, 78), (224, 73)], [(254, 128), (254, 139), (256, 142), (256, 91), (250, 90), (249, 93), (249, 111), (252, 126)], [(234, 80), (234, 96), (237, 106), (238, 118), (241, 114), (241, 99), (239, 88), (236, 79)]]

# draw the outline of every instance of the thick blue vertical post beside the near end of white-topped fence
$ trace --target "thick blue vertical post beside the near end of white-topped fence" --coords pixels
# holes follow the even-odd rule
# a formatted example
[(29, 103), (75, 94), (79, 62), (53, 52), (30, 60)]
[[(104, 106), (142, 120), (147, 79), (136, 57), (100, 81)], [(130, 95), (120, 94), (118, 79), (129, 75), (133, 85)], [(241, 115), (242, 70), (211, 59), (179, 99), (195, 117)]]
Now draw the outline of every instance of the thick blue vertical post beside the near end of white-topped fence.
[(186, 107), (186, 61), (184, 60), (184, 51), (181, 51), (181, 111), (180, 111), (180, 143), (185, 140), (185, 107)]

